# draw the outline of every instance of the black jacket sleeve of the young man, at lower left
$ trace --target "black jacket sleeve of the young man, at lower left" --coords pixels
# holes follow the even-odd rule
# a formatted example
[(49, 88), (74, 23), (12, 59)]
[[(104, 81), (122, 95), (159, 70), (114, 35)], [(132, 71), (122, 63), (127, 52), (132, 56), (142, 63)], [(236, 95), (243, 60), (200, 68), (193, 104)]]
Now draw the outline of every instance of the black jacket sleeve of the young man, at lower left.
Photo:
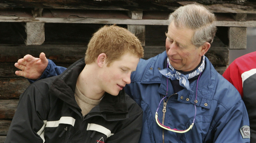
[(5, 143), (44, 142), (49, 100), (41, 93), (31, 84), (21, 94)]

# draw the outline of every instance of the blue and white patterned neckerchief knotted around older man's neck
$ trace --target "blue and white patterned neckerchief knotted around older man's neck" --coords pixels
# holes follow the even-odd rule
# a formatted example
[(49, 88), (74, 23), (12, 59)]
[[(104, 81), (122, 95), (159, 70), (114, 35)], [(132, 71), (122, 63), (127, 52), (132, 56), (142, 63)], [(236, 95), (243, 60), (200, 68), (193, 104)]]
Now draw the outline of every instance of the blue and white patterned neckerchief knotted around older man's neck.
[[(170, 78), (171, 80), (179, 80), (180, 86), (186, 88), (187, 90), (191, 90), (191, 88), (189, 87), (189, 81), (188, 79), (193, 78), (197, 75), (199, 75), (201, 72), (203, 72), (204, 70), (204, 56), (203, 56), (203, 61), (201, 63), (201, 65), (193, 72), (188, 73), (188, 74), (183, 74), (177, 70), (175, 70), (169, 61), (169, 58), (167, 58), (167, 63), (169, 65), (169, 68), (165, 68), (160, 70), (160, 73), (162, 75), (164, 75), (167, 78)], [(192, 91), (193, 92), (193, 91)]]

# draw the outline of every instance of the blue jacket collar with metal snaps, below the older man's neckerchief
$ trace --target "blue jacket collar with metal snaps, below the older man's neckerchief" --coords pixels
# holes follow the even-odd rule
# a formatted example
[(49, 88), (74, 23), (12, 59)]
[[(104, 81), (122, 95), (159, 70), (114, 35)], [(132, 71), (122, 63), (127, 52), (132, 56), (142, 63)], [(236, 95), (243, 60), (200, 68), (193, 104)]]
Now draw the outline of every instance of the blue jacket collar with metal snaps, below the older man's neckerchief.
[[(166, 81), (166, 77), (160, 74), (159, 70), (164, 69), (164, 61), (167, 55), (164, 51), (158, 56), (152, 57), (148, 60), (141, 60), (138, 64), (139, 69), (141, 70), (139, 74), (135, 74), (133, 77), (133, 82), (140, 81), (141, 84), (160, 84), (158, 88), (158, 93), (162, 95), (166, 95), (167, 89), (167, 81), (168, 81), (168, 94), (170, 96), (174, 94), (171, 82), (169, 80)], [(137, 72), (137, 71), (136, 71)], [(213, 99), (215, 89), (217, 86), (216, 78), (218, 72), (214, 69), (213, 65), (210, 63), (209, 59), (205, 57), (205, 69), (200, 76), (198, 81), (198, 90), (197, 90), (197, 101), (196, 105), (209, 109), (211, 105), (211, 101)], [(141, 75), (141, 76), (138, 76)], [(137, 77), (136, 77), (137, 76)], [(193, 103), (196, 99), (196, 87), (197, 80), (193, 81), (189, 84), (190, 88), (194, 91), (189, 91), (187, 89), (182, 89), (178, 94), (178, 101), (182, 103)], [(181, 97), (182, 96), (182, 97)], [(189, 98), (189, 101), (186, 99)], [(207, 106), (205, 106), (207, 103)]]

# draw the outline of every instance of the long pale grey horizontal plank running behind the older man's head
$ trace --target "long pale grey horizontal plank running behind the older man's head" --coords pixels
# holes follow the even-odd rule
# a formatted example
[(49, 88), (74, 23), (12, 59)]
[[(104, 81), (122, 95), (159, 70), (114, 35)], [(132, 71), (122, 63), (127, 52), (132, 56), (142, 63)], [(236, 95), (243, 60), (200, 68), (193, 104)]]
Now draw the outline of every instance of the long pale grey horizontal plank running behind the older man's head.
[[(26, 23), (80, 23), (80, 24), (130, 24), (130, 25), (168, 25), (167, 20), (156, 19), (100, 19), (100, 18), (45, 18), (0, 16), (0, 22)], [(256, 27), (256, 21), (216, 21), (216, 26)]]

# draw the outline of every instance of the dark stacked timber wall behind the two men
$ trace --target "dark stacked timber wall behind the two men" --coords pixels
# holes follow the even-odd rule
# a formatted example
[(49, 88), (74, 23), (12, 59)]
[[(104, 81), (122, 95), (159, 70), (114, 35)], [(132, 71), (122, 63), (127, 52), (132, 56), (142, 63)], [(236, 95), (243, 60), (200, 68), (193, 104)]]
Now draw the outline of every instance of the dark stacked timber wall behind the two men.
[[(81, 5), (82, 8), (72, 5), (65, 9), (61, 5), (56, 8), (49, 8), (49, 5), (42, 7), (30, 0), (19, 2), (19, 5), (13, 5), (15, 1), (11, 0), (5, 2), (9, 3), (0, 2), (0, 143), (7, 135), (19, 95), (29, 85), (27, 79), (14, 73), (18, 70), (14, 67), (18, 59), (26, 54), (38, 57), (44, 52), (57, 65), (68, 67), (84, 57), (92, 34), (105, 24), (117, 24), (134, 32), (142, 41), (144, 59), (148, 59), (165, 51), (164, 33), (167, 31), (168, 14), (187, 4), (175, 3), (167, 9), (164, 6), (164, 11), (154, 10), (151, 5), (150, 10), (129, 7), (127, 3), (125, 7), (115, 4), (114, 8), (111, 5), (104, 8), (92, 4), (90, 7)], [(256, 27), (255, 4), (252, 8), (226, 4), (206, 7), (216, 14), (218, 31), (205, 56), (222, 74), (228, 64), (229, 49), (246, 48), (246, 27)], [(234, 39), (240, 42), (234, 44)]]

